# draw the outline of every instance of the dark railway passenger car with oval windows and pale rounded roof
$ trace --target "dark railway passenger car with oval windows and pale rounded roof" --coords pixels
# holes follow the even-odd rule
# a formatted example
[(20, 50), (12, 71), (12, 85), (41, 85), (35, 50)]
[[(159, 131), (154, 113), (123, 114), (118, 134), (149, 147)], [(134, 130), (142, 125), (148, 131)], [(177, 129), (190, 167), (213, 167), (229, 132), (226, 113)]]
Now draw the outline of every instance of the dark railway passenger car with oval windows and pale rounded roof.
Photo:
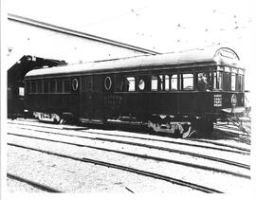
[(129, 121), (187, 137), (243, 112), (244, 75), (228, 47), (36, 69), (25, 77), (26, 109), (42, 120)]

